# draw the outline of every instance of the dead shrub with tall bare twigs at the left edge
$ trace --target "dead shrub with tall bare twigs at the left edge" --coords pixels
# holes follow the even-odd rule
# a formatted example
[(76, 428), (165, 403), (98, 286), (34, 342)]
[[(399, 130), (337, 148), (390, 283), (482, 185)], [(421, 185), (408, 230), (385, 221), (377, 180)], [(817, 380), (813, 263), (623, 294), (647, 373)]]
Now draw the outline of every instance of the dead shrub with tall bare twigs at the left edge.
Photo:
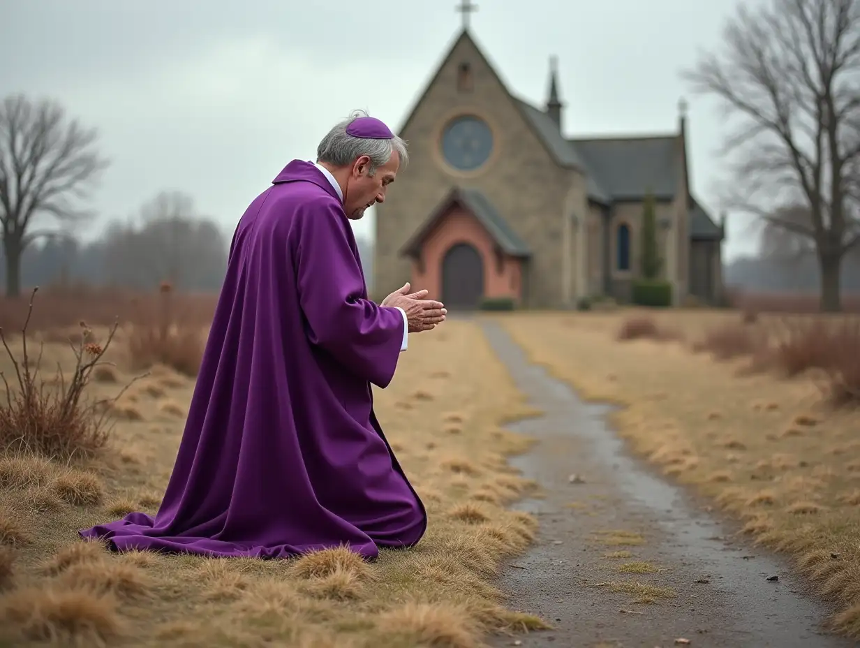
[[(66, 382), (59, 368), (52, 379), (44, 380), (39, 369), (43, 346), (40, 345), (39, 355), (34, 361), (27, 339), (38, 290), (35, 288), (30, 296), (28, 317), (22, 327), (20, 359), (15, 357), (3, 329), (0, 329), (0, 342), (12, 361), (17, 380), (17, 389), (13, 391), (6, 376), (0, 372), (0, 380), (6, 387), (6, 402), (0, 403), (0, 450), (63, 459), (89, 456), (101, 450), (107, 442), (113, 419), (105, 405), (112, 401), (85, 398), (84, 392), (95, 367), (106, 364), (101, 358), (114, 338), (117, 324), (102, 345), (93, 341), (91, 330), (81, 322), (80, 342), (70, 342), (76, 358), (71, 380)], [(116, 398), (120, 398), (126, 388)]]

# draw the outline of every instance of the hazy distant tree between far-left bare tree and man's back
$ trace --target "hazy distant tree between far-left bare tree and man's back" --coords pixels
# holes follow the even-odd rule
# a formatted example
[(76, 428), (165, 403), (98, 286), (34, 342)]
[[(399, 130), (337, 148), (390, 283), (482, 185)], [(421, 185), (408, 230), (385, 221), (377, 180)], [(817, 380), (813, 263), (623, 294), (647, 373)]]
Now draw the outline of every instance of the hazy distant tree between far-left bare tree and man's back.
[(114, 222), (104, 240), (107, 271), (126, 286), (145, 289), (169, 281), (176, 288), (199, 287), (226, 268), (224, 234), (179, 191), (146, 202), (137, 222)]

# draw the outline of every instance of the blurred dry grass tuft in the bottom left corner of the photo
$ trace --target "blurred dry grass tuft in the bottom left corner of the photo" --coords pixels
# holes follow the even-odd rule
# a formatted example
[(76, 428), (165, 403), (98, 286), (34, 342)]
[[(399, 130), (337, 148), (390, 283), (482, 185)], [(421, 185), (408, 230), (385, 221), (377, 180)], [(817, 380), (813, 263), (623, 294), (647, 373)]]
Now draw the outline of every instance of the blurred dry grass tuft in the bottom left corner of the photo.
[(15, 589), (0, 599), (0, 633), (55, 645), (104, 646), (122, 633), (116, 600), (85, 589)]

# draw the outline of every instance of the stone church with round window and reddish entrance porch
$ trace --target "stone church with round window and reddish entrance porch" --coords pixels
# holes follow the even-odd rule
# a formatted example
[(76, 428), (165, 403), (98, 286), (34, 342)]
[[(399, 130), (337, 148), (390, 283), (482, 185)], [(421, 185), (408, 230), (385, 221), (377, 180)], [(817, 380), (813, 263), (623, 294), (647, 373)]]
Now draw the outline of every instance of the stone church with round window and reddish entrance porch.
[(398, 132), (409, 166), (376, 207), (374, 292), (408, 279), (453, 309), (627, 301), (650, 192), (674, 303), (714, 303), (724, 228), (691, 192), (683, 108), (676, 133), (587, 139), (565, 135), (563, 108), (555, 62), (537, 108), (464, 28)]

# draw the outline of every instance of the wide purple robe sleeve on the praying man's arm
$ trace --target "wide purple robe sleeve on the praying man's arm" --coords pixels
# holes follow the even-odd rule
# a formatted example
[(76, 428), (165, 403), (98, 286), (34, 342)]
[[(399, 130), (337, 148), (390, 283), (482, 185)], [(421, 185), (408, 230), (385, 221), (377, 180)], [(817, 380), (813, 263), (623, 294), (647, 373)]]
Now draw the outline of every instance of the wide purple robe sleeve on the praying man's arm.
[(396, 308), (365, 299), (346, 217), (319, 201), (298, 208), (296, 277), (310, 343), (352, 373), (384, 388), (394, 377), (405, 318)]

